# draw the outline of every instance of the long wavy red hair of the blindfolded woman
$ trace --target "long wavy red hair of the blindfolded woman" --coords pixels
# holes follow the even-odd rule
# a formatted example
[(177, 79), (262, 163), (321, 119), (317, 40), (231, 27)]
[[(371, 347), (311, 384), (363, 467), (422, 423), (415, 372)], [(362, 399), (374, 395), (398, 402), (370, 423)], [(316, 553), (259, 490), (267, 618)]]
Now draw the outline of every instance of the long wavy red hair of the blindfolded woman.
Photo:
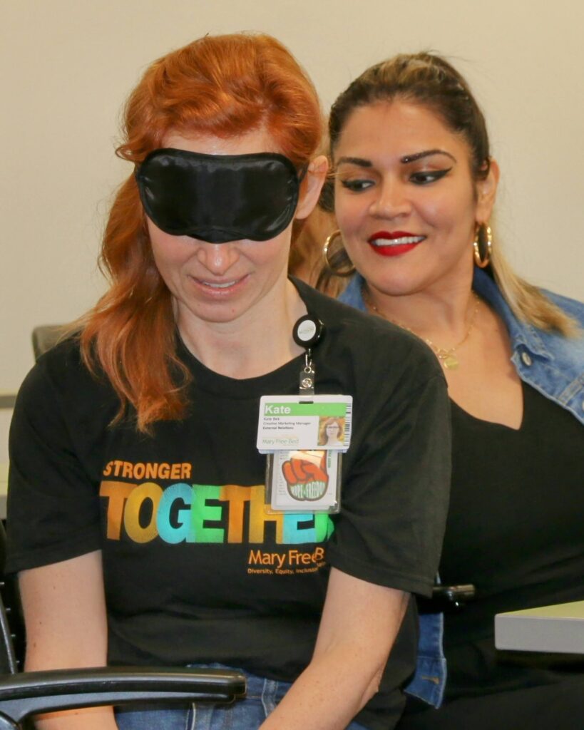
[[(265, 128), (301, 166), (315, 153), (322, 117), (312, 82), (267, 35), (206, 36), (155, 61), (128, 99), (125, 142), (116, 153), (139, 164), (170, 131), (232, 137)], [(134, 407), (139, 431), (182, 418), (190, 374), (177, 357), (172, 299), (155, 266), (134, 174), (112, 204), (99, 264), (110, 289), (83, 320), (85, 364), (106, 374)]]

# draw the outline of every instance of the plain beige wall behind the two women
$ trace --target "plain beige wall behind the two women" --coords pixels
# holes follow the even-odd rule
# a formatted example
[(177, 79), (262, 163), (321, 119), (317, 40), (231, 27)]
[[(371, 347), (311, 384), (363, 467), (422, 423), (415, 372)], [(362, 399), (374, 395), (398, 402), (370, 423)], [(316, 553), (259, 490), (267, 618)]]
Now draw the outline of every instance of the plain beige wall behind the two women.
[(31, 366), (33, 326), (71, 320), (100, 291), (104, 213), (128, 174), (112, 153), (126, 93), (150, 60), (207, 32), (274, 34), (325, 108), (385, 56), (450, 55), (485, 108), (512, 261), (584, 298), (584, 9), (574, 0), (4, 0), (1, 16), (0, 391)]

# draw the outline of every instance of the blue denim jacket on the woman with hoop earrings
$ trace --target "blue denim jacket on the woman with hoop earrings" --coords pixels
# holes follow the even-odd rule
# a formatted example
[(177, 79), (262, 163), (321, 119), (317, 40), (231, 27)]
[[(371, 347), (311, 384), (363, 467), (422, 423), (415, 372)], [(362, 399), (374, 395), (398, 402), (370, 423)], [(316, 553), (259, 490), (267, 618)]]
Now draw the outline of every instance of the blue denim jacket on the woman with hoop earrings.
[[(355, 274), (339, 299), (366, 312), (363, 283), (363, 278)], [(513, 350), (511, 361), (521, 380), (571, 412), (580, 423), (584, 423), (584, 304), (544, 292), (554, 304), (580, 324), (580, 335), (567, 338), (544, 332), (518, 320), (504, 300), (499, 287), (482, 269), (475, 267), (472, 286), (507, 326)], [(446, 688), (443, 631), (442, 613), (420, 615), (418, 666), (406, 688), (407, 694), (419, 697), (434, 707), (442, 704)]]

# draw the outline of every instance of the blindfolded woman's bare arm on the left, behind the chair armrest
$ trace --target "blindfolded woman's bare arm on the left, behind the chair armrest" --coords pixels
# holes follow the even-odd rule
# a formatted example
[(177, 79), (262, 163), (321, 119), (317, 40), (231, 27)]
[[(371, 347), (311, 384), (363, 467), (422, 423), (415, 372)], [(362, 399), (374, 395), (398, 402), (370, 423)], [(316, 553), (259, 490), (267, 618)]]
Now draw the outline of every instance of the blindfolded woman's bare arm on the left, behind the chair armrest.
[[(26, 622), (26, 671), (104, 666), (107, 619), (101, 552), (19, 575)], [(39, 730), (115, 730), (111, 707), (44, 715)]]

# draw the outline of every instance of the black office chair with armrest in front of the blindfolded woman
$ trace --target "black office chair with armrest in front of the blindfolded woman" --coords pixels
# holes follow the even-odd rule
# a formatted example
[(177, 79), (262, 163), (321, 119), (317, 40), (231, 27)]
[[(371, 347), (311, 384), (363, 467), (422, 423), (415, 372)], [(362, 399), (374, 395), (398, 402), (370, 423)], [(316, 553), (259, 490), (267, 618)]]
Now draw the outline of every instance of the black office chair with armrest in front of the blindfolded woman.
[[(0, 523), (0, 561), (4, 572), (6, 535)], [(0, 586), (0, 730), (25, 730), (41, 712), (128, 702), (234, 702), (245, 696), (245, 676), (223, 669), (96, 667), (18, 672), (14, 636)], [(18, 598), (12, 592), (11, 600)], [(15, 618), (18, 606), (9, 607)]]

